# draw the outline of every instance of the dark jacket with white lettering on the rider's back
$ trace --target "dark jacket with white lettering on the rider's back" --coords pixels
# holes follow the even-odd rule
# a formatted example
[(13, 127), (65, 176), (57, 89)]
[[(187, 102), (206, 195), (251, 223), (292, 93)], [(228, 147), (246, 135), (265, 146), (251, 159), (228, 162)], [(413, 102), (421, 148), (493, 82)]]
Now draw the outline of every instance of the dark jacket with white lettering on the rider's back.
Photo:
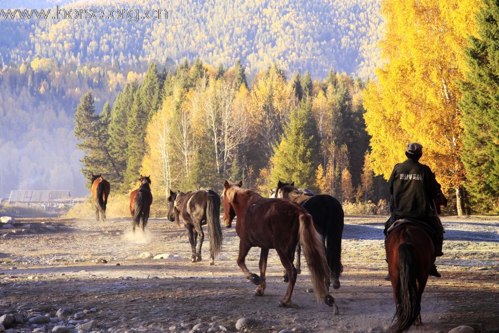
[(401, 217), (425, 218), (433, 216), (430, 202), (440, 192), (440, 184), (430, 167), (407, 159), (395, 165), (388, 181), (390, 211)]

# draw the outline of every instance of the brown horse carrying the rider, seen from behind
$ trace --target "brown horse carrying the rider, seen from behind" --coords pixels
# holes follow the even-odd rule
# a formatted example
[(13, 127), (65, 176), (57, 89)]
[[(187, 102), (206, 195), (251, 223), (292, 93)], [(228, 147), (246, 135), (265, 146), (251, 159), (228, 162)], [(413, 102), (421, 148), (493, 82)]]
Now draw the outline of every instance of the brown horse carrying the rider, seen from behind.
[[(432, 207), (437, 216), (441, 206), (447, 206), (447, 198), (440, 191)], [(435, 263), (435, 245), (426, 228), (424, 222), (397, 220), (388, 230), (385, 251), (396, 305), (390, 332), (404, 332), (412, 324), (422, 325), (421, 297)]]

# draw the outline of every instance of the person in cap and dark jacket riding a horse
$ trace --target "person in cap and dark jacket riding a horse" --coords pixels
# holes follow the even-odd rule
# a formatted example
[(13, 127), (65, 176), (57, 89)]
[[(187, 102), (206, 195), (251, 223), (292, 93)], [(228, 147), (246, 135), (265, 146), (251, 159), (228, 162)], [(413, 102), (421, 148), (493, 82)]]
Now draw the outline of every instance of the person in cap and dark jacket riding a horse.
[[(441, 193), (441, 186), (430, 167), (419, 163), (423, 155), (422, 145), (416, 142), (408, 144), (405, 154), (407, 160), (395, 165), (390, 176), (391, 216), (385, 223), (384, 233), (387, 235), (388, 228), (400, 219), (425, 222), (436, 233), (435, 257), (441, 257), (444, 255), (444, 228), (435, 212), (434, 204), (434, 200)], [(430, 270), (430, 275), (441, 277), (435, 265)]]

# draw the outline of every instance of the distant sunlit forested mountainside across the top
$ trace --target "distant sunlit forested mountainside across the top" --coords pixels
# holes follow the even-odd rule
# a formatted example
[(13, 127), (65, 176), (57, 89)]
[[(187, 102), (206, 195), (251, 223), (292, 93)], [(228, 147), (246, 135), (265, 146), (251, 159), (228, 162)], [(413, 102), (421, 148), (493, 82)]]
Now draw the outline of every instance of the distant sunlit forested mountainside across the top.
[[(39, 7), (55, 0), (22, 3)], [(229, 66), (241, 58), (249, 76), (276, 62), (287, 72), (309, 70), (314, 77), (325, 77), (334, 68), (366, 78), (380, 61), (380, 0), (79, 1), (64, 8), (102, 9), (106, 16), (124, 8), (125, 18), (12, 22), (0, 17), (5, 32), (0, 36), (0, 63), (39, 56), (127, 68), (200, 57)], [(164, 14), (141, 19), (147, 9), (158, 8), (168, 10), (167, 19)]]

